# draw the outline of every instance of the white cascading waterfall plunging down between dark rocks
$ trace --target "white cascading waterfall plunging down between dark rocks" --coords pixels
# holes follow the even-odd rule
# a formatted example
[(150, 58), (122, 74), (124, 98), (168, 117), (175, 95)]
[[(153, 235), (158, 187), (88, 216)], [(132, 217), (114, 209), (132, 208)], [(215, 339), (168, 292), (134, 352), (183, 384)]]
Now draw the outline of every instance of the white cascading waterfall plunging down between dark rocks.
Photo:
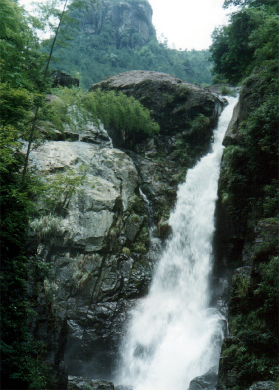
[(172, 237), (148, 296), (133, 308), (116, 381), (136, 390), (187, 390), (218, 365), (223, 317), (209, 308), (208, 279), (222, 139), (236, 98), (220, 115), (212, 151), (178, 188)]

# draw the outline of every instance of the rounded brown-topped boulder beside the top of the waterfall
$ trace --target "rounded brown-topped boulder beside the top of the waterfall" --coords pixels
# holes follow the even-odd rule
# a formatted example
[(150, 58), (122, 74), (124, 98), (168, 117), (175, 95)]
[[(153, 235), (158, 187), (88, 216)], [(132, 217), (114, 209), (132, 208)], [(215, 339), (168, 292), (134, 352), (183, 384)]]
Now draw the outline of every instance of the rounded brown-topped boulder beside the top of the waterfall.
[[(98, 88), (103, 91), (121, 91), (139, 100), (151, 110), (153, 119), (161, 127), (161, 133), (189, 131), (190, 121), (197, 114), (204, 114), (215, 122), (223, 107), (223, 102), (209, 91), (169, 74), (154, 71), (131, 70), (116, 74), (92, 85), (90, 91)], [(116, 140), (121, 146), (115, 134), (110, 136), (114, 145)]]

